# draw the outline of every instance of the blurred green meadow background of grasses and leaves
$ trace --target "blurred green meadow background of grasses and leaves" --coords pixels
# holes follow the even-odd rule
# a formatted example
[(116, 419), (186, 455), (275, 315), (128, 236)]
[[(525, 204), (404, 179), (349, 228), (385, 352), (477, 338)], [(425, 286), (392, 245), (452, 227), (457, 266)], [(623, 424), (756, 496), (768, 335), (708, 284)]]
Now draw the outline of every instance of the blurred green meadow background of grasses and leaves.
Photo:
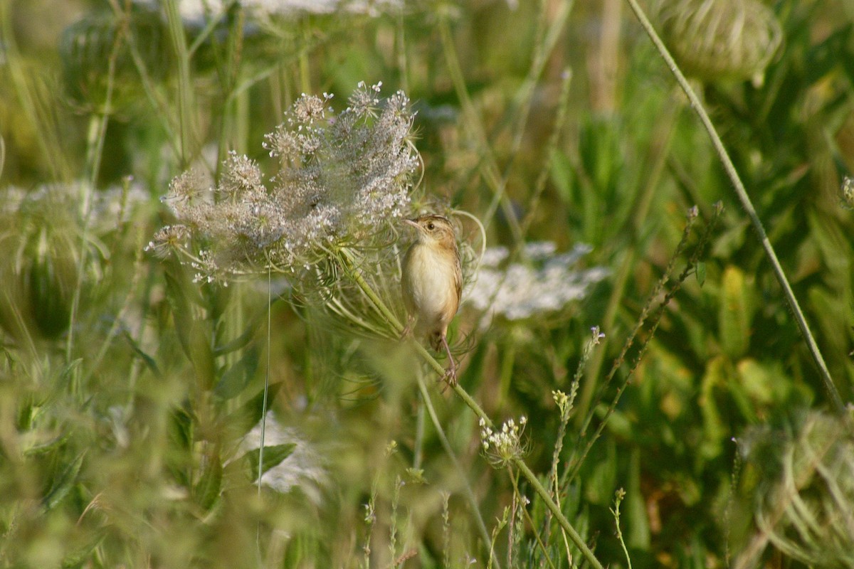
[[(483, 460), (477, 417), (428, 378), (436, 432), (401, 379), (412, 354), (336, 328), (282, 282), (268, 302), (266, 278), (202, 286), (143, 253), (171, 221), (160, 198), (173, 177), (216, 178), (230, 150), (274, 174), (262, 142), (291, 102), (329, 92), (342, 107), (360, 81), (412, 99), (414, 206), (473, 213), (488, 247), (522, 267), (543, 263), (525, 243), (549, 241), (588, 244), (577, 270), (608, 270), (558, 310), (484, 320), (464, 304), (452, 331), (461, 385), (499, 424), (528, 418), (525, 462), (544, 479), (560, 433), (552, 392), (570, 392), (589, 329), (606, 334), (582, 362), (558, 461), (561, 506), (604, 565), (628, 566), (611, 512), (624, 488), (633, 567), (846, 566), (851, 469), (832, 478), (847, 536), (824, 519), (810, 535), (757, 521), (774, 510), (781, 455), (834, 409), (708, 136), (627, 3), (198, 4), (0, 0), (3, 566), (485, 567), (490, 549), (493, 566), (586, 566), (518, 473)], [(851, 3), (642, 5), (850, 401)], [(699, 218), (673, 279), (718, 201), (699, 267), (606, 384), (664, 296), (688, 208)], [(479, 247), (468, 224), (460, 238)], [(266, 374), (265, 468), (284, 470), (258, 491), (243, 437)], [(851, 429), (834, 425), (818, 446), (850, 462)], [(821, 556), (822, 531), (836, 557)]]

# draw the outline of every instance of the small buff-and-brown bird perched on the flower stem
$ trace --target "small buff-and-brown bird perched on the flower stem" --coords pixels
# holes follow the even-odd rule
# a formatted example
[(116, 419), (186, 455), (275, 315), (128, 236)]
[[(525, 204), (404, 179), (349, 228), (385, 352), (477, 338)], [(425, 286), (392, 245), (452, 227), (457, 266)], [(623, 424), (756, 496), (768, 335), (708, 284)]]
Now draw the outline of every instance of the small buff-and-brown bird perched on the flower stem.
[(457, 364), (446, 334), (463, 293), (463, 270), (453, 226), (441, 215), (423, 215), (404, 222), (418, 230), (418, 240), (403, 258), (403, 302), (409, 322), (415, 321), (415, 335), (426, 336), (436, 351), (445, 348), (450, 361), (445, 378), (453, 386), (457, 383)]

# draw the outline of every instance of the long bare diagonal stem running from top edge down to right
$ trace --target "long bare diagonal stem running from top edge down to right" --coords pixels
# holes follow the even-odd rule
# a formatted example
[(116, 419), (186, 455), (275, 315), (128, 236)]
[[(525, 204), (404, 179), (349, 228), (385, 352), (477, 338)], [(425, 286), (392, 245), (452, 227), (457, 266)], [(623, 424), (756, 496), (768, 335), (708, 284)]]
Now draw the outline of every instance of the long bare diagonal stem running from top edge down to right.
[(688, 101), (691, 102), (691, 107), (694, 112), (697, 113), (700, 122), (703, 124), (706, 133), (709, 135), (712, 146), (714, 146), (715, 152), (717, 153), (717, 157), (721, 160), (723, 169), (727, 172), (729, 180), (733, 183), (735, 195), (738, 197), (742, 209), (750, 218), (753, 229), (757, 232), (759, 241), (761, 241), (762, 247), (765, 251), (765, 255), (768, 257), (769, 262), (771, 263), (771, 268), (774, 270), (777, 282), (780, 283), (789, 308), (792, 309), (795, 322), (798, 323), (798, 328), (800, 328), (801, 334), (804, 335), (804, 341), (806, 342), (807, 348), (810, 350), (810, 355), (812, 356), (813, 361), (816, 363), (819, 374), (822, 376), (822, 381), (824, 382), (824, 387), (828, 392), (828, 396), (834, 404), (836, 411), (840, 415), (844, 414), (845, 404), (842, 402), (842, 398), (839, 396), (839, 391), (834, 385), (834, 380), (830, 376), (828, 365), (824, 362), (822, 352), (819, 350), (818, 345), (816, 344), (816, 339), (810, 332), (810, 326), (806, 322), (806, 318), (804, 317), (803, 311), (800, 309), (800, 305), (798, 305), (798, 299), (795, 297), (792, 287), (789, 285), (786, 278), (786, 274), (783, 272), (780, 261), (777, 259), (774, 247), (771, 245), (771, 241), (769, 241), (768, 235), (765, 233), (762, 220), (759, 219), (756, 208), (753, 207), (750, 196), (747, 195), (744, 183), (741, 182), (739, 173), (735, 170), (735, 166), (733, 165), (733, 161), (729, 158), (727, 149), (723, 147), (723, 142), (721, 137), (717, 134), (715, 125), (712, 125), (709, 114), (705, 112), (703, 103), (700, 102), (699, 97), (688, 83), (685, 75), (681, 72), (679, 66), (676, 65), (676, 61), (673, 59), (673, 56), (670, 55), (670, 51), (668, 51), (662, 39), (658, 37), (658, 33), (652, 26), (652, 22), (650, 22), (649, 18), (646, 17), (646, 13), (640, 8), (637, 0), (627, 0), (627, 2), (629, 2), (629, 6), (631, 6), (631, 9), (635, 12), (635, 16), (637, 16), (637, 19), (640, 21), (640, 26), (643, 26), (646, 31), (646, 35), (649, 36), (652, 40), (652, 44), (655, 45), (655, 49), (658, 50), (658, 55), (661, 55), (662, 59), (664, 59), (664, 62), (667, 64), (667, 67), (670, 69), (670, 73), (673, 73), (673, 76), (676, 78), (676, 82), (679, 83), (681, 89), (685, 91)]

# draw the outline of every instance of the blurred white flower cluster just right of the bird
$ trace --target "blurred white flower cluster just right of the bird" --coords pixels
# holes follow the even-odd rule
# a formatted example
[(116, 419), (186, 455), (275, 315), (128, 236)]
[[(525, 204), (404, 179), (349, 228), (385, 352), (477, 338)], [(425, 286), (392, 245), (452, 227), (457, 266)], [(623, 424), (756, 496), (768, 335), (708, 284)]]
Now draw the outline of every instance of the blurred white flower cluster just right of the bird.
[(573, 300), (583, 299), (590, 287), (609, 275), (604, 267), (578, 269), (576, 264), (592, 247), (576, 245), (570, 253), (555, 253), (554, 243), (525, 245), (528, 264), (501, 267), (508, 257), (506, 247), (490, 247), (483, 255), (477, 280), (465, 293), (465, 302), (484, 312), (482, 328), (496, 315), (522, 320), (559, 311)]

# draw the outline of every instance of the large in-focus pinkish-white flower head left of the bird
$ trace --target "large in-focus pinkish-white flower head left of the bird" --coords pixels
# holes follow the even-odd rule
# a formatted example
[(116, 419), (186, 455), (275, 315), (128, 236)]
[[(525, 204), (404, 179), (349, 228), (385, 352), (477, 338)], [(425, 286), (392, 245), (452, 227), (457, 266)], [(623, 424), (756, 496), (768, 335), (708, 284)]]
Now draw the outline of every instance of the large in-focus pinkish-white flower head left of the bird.
[(307, 270), (340, 247), (377, 248), (371, 240), (407, 212), (419, 165), (409, 99), (398, 91), (383, 100), (380, 85), (360, 83), (337, 114), (331, 95), (299, 97), (266, 136), (279, 163), (269, 182), (236, 153), (215, 188), (194, 171), (176, 177), (163, 201), (177, 224), (149, 249), (162, 255), (189, 233), (206, 252), (181, 249), (200, 280), (225, 281), (266, 267)]

